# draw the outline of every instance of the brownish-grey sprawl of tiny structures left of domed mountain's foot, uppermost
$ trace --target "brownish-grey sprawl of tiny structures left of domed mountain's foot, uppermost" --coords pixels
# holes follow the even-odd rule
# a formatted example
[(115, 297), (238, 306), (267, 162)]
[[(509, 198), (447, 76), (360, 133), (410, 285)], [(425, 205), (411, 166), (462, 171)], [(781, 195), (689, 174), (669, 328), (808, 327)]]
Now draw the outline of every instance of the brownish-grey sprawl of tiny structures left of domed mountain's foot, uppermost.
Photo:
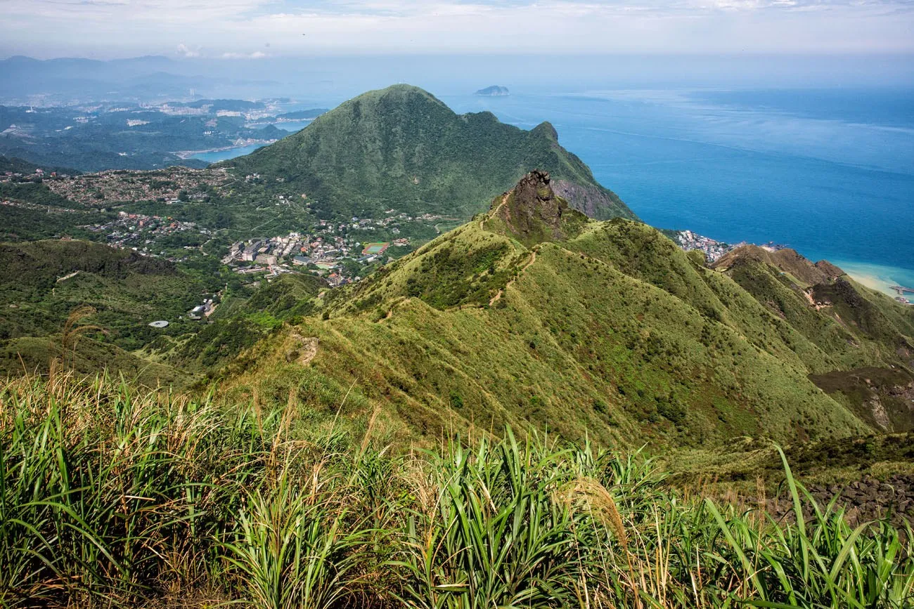
[(45, 180), (51, 192), (83, 205), (100, 201), (179, 203), (182, 191), (199, 193), (201, 186), (218, 188), (231, 181), (221, 169), (169, 167), (155, 171), (113, 170)]

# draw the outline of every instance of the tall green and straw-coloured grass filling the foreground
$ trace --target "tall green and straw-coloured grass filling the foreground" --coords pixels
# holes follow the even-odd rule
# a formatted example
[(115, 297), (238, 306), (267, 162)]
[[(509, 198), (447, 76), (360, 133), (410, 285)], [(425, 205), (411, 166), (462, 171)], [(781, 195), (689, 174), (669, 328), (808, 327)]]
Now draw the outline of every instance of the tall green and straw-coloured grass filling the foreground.
[(0, 603), (914, 602), (909, 525), (852, 529), (834, 502), (804, 518), (812, 498), (786, 459), (792, 509), (776, 519), (685, 498), (638, 453), (510, 429), (377, 446), (377, 411), (343, 422), (294, 394), (259, 404), (67, 374), (3, 383)]

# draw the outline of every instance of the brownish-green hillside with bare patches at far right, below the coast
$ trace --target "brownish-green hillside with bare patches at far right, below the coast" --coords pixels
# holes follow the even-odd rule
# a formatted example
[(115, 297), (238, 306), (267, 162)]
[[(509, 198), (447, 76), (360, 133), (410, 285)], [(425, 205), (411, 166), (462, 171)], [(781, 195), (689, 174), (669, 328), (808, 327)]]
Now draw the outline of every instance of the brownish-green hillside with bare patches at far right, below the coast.
[(810, 380), (835, 401), (880, 431), (914, 428), (914, 308), (791, 249), (740, 247), (714, 268), (831, 356)]

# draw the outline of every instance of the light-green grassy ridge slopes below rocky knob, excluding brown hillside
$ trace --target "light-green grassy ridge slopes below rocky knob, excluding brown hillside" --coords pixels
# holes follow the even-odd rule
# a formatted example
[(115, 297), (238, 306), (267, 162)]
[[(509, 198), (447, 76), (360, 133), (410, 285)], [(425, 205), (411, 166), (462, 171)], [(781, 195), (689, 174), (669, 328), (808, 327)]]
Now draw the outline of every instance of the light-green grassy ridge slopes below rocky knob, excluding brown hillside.
[[(255, 387), (265, 366), (290, 388), (355, 383), (431, 436), (513, 425), (670, 446), (868, 429), (807, 378), (830, 353), (643, 225), (528, 248), (474, 220), (332, 296), (329, 319), (281, 329), (229, 382)], [(320, 344), (306, 369), (287, 357), (302, 337)]]

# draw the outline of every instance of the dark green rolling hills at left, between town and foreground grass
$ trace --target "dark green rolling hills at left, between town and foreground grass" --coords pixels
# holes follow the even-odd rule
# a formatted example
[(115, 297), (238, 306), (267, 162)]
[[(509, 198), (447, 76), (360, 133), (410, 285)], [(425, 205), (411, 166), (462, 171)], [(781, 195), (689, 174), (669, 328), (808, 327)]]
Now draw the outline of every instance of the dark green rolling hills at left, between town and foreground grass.
[[(0, 277), (0, 375), (45, 372), (63, 357), (77, 373), (186, 385), (283, 320), (314, 313), (326, 289), (323, 278), (305, 275), (244, 286), (225, 269), (65, 239), (0, 243), (0, 265), (8, 271)], [(205, 298), (218, 302), (213, 313), (189, 319)], [(154, 320), (168, 325), (151, 327)]]

